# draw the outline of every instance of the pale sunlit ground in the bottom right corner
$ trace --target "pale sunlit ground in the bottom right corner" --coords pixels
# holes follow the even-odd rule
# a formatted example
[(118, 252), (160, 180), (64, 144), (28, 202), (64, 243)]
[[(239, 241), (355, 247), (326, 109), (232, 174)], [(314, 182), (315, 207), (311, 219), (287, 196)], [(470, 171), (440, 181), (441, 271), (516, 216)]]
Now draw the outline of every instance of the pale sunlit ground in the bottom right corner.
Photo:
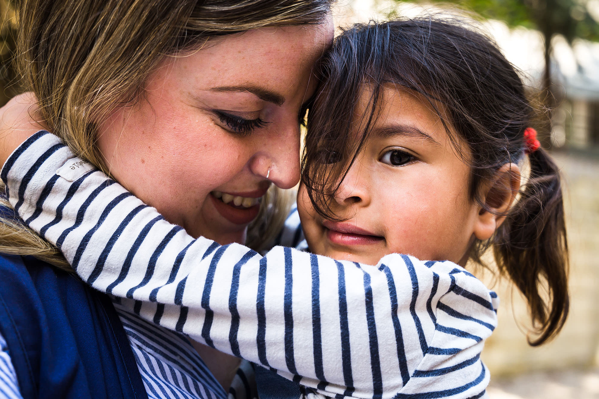
[(597, 399), (599, 369), (561, 370), (493, 379), (490, 399)]

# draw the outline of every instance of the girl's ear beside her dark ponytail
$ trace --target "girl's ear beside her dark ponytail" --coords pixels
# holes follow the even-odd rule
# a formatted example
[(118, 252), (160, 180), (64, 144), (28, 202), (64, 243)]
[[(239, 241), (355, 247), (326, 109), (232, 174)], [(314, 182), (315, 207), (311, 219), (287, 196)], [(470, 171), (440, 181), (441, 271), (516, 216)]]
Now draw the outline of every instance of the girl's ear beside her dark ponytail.
[(483, 185), (480, 196), (485, 206), (479, 207), (474, 224), (474, 235), (479, 240), (488, 240), (506, 219), (514, 198), (520, 189), (520, 168), (516, 164), (504, 164)]

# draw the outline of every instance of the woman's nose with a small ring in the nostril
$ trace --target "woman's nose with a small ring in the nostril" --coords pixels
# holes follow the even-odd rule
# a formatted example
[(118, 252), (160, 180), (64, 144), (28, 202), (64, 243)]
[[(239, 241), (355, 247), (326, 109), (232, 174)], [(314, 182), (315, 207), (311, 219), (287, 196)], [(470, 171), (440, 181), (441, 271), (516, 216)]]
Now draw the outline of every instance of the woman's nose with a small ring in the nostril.
[(299, 125), (277, 129), (257, 143), (256, 154), (250, 169), (254, 174), (273, 182), (277, 187), (289, 189), (299, 182)]

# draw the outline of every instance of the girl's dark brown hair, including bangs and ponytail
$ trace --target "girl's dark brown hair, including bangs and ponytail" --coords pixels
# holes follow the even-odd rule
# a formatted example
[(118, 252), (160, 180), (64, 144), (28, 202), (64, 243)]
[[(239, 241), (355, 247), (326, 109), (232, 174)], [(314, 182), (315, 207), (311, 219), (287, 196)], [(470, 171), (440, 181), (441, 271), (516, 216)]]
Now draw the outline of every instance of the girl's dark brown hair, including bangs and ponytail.
[[(371, 22), (337, 37), (320, 66), (323, 83), (308, 114), (302, 154), (302, 183), (319, 214), (335, 219), (330, 194), (364, 146), (385, 87), (419, 93), (441, 117), (456, 152), (471, 166), (471, 200), (485, 206), (481, 183), (501, 165), (521, 161), (534, 115), (524, 84), (495, 43), (465, 25), (433, 17)], [(364, 93), (370, 101), (356, 120)], [(356, 126), (358, 140), (347, 140)], [(558, 168), (543, 149), (529, 159), (519, 200), (494, 236), (474, 245), (471, 258), (482, 263), (480, 256), (493, 246), (500, 272), (528, 301), (538, 334), (529, 343), (536, 346), (555, 336), (568, 314), (568, 248)]]

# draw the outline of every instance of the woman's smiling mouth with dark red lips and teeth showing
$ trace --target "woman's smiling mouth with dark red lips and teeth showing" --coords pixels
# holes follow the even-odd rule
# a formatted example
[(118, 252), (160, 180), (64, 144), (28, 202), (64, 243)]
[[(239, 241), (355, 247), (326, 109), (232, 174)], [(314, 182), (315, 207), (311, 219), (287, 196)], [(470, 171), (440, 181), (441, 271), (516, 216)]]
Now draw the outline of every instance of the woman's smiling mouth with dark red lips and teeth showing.
[(266, 190), (247, 193), (210, 192), (210, 199), (220, 216), (236, 225), (246, 225), (258, 216), (260, 201)]

